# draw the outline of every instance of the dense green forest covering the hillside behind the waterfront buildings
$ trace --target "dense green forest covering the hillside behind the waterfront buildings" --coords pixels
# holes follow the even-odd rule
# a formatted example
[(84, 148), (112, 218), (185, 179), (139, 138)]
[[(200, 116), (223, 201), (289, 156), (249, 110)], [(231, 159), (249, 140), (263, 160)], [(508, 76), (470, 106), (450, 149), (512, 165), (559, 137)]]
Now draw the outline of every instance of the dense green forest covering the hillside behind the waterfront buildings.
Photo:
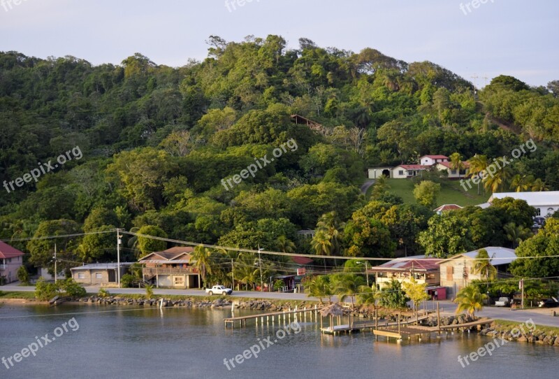
[[(391, 257), (513, 246), (527, 236), (532, 210), (518, 202), (433, 217), (382, 183), (372, 199), (359, 187), (369, 166), (425, 154), (491, 162), (533, 138), (537, 150), (487, 187), (559, 190), (558, 81), (530, 87), (498, 76), (476, 93), (432, 62), (299, 43), (288, 50), (281, 36), (210, 36), (208, 57), (180, 68), (141, 54), (92, 66), (1, 52), (0, 183), (76, 148), (82, 156), (66, 154), (37, 182), (1, 189), (0, 238), (119, 227), (240, 248)], [(321, 126), (297, 124), (295, 114)], [(224, 185), (235, 174), (242, 180)], [(300, 238), (300, 229), (317, 234)], [(165, 247), (140, 240), (125, 241), (126, 259)], [(54, 242), (11, 244), (50, 266)], [(58, 243), (69, 266), (115, 260), (114, 233)]]

